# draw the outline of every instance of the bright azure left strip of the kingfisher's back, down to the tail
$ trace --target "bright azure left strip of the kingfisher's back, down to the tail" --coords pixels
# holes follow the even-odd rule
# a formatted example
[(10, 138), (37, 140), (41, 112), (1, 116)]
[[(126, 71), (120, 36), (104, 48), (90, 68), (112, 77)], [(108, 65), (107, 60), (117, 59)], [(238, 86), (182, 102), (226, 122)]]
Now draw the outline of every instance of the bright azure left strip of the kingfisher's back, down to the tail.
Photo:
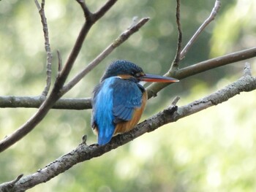
[(92, 116), (91, 127), (97, 129), (98, 144), (105, 145), (110, 142), (115, 131), (113, 123), (113, 83), (116, 77), (110, 77), (94, 89), (91, 100)]

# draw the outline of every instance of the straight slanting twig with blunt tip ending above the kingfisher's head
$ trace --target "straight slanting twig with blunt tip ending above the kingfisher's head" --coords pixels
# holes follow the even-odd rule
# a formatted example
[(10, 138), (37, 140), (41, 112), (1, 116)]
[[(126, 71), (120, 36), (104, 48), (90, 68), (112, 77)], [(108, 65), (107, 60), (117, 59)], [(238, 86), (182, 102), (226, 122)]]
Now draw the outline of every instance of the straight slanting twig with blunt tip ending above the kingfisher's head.
[(146, 22), (148, 22), (149, 18), (141, 19), (136, 25), (128, 28), (127, 31), (124, 31), (120, 34), (120, 36), (115, 39), (105, 50), (102, 51), (96, 58), (94, 58), (91, 63), (86, 66), (81, 72), (79, 72), (72, 80), (70, 80), (67, 85), (61, 89), (61, 93), (67, 93), (71, 88), (73, 88), (86, 74), (91, 72), (91, 69), (94, 69), (104, 58), (106, 58), (116, 47), (125, 42), (132, 34), (138, 31)]

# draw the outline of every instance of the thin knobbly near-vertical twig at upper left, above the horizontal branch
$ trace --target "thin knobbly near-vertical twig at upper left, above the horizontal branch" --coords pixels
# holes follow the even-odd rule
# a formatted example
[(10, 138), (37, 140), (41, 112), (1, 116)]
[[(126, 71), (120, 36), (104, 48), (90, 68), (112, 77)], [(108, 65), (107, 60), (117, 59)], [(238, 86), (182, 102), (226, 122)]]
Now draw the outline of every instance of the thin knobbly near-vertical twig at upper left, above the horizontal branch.
[(42, 91), (42, 96), (47, 96), (50, 90), (50, 81), (51, 81), (51, 64), (53, 55), (50, 51), (50, 41), (49, 41), (49, 32), (48, 32), (48, 23), (45, 17), (45, 0), (42, 0), (41, 7), (37, 0), (35, 0), (35, 4), (39, 11), (39, 15), (42, 23), (42, 31), (44, 32), (45, 37), (45, 51), (46, 51), (46, 85), (44, 91)]

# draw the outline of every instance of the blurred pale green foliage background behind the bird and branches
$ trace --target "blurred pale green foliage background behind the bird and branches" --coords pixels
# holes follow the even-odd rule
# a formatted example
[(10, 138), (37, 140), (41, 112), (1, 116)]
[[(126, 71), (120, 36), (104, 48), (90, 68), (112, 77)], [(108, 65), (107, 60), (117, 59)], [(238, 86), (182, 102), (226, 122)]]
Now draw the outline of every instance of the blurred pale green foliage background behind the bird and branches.
[[(105, 1), (86, 1), (95, 11)], [(214, 1), (181, 1), (184, 44), (208, 17)], [(118, 1), (90, 31), (72, 74), (85, 67), (134, 16), (151, 20), (65, 97), (89, 97), (105, 67), (127, 59), (145, 72), (164, 74), (176, 52), (176, 1)], [(76, 1), (46, 1), (53, 77), (56, 50), (63, 61), (83, 24)], [(256, 1), (223, 1), (216, 20), (200, 35), (181, 67), (256, 45)], [(45, 86), (42, 25), (34, 1), (0, 1), (1, 96), (37, 96)], [(217, 91), (242, 75), (244, 62), (189, 77), (150, 99), (142, 119), (181, 96), (178, 105)], [(248, 60), (255, 75), (255, 58)], [(53, 78), (54, 79), (54, 78)], [(255, 191), (256, 92), (233, 99), (144, 134), (128, 145), (78, 164), (29, 191)], [(0, 109), (0, 138), (15, 131), (36, 109)], [(31, 174), (81, 142), (96, 142), (90, 128), (91, 110), (51, 110), (27, 137), (0, 154), (0, 183)]]

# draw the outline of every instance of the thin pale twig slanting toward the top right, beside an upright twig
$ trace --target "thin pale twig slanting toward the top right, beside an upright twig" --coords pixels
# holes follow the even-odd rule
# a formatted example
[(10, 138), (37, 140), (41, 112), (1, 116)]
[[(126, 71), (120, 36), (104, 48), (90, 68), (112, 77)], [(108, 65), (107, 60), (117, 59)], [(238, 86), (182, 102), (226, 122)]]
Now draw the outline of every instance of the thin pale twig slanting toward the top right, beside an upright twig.
[(181, 59), (185, 57), (187, 51), (194, 44), (195, 40), (197, 39), (197, 37), (199, 37), (200, 33), (206, 28), (206, 26), (208, 26), (209, 23), (211, 23), (212, 20), (214, 20), (214, 18), (217, 15), (217, 12), (219, 11), (220, 4), (221, 4), (220, 0), (215, 1), (214, 8), (211, 10), (211, 14), (209, 15), (209, 17), (203, 22), (200, 28), (197, 29), (193, 37), (189, 40), (187, 45), (181, 51)]

